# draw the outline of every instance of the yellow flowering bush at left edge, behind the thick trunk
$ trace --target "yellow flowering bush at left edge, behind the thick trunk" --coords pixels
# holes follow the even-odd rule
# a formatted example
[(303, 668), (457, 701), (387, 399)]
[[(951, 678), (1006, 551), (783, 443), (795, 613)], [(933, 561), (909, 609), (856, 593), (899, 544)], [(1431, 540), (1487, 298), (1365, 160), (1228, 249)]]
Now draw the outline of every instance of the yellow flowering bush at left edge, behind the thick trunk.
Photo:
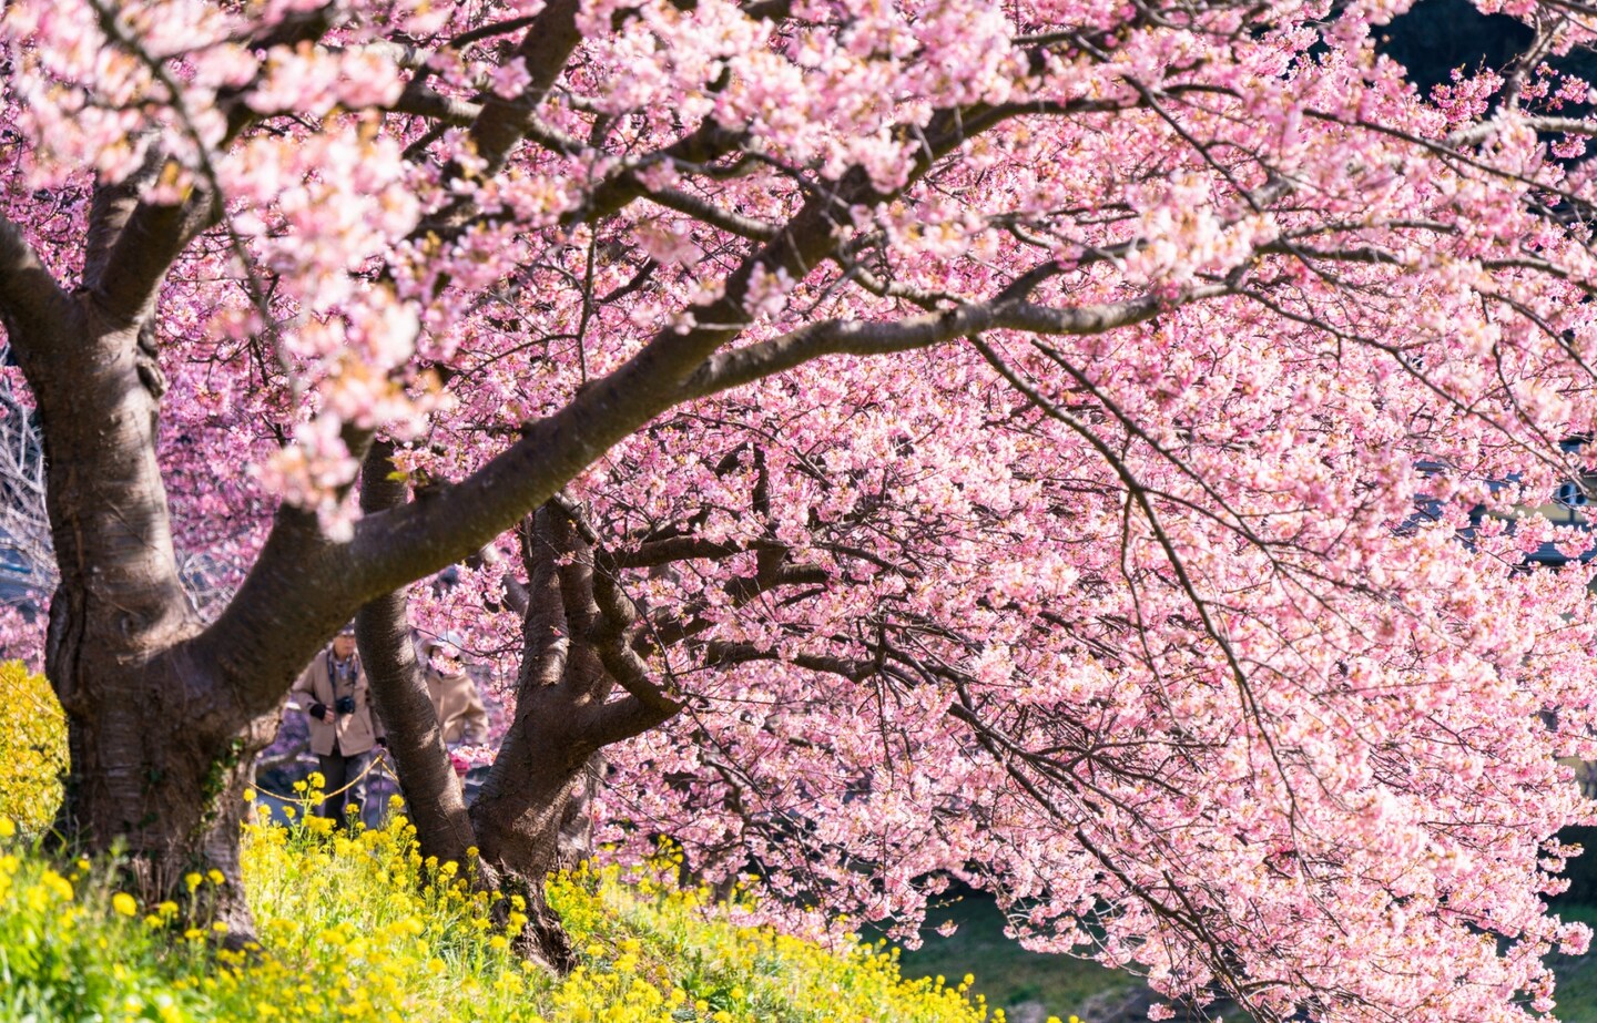
[(0, 662), (0, 817), (27, 831), (50, 824), (67, 769), (67, 720), (43, 675)]

